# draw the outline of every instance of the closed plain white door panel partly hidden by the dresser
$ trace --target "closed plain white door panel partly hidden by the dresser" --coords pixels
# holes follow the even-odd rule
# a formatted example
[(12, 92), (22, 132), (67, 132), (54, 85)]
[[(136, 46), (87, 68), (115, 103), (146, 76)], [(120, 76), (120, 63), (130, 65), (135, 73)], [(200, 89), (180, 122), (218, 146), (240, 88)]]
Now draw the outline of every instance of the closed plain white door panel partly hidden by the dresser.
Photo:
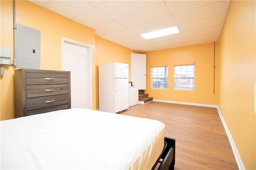
[(71, 108), (92, 109), (91, 59), (88, 50), (72, 41), (62, 42), (62, 70), (71, 74)]

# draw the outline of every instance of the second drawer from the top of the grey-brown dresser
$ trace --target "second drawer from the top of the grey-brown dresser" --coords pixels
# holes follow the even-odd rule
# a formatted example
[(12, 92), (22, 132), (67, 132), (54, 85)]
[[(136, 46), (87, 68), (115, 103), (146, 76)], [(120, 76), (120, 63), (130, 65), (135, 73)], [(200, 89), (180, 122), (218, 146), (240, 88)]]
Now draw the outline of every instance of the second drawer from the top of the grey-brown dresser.
[(68, 93), (68, 84), (27, 85), (27, 98)]

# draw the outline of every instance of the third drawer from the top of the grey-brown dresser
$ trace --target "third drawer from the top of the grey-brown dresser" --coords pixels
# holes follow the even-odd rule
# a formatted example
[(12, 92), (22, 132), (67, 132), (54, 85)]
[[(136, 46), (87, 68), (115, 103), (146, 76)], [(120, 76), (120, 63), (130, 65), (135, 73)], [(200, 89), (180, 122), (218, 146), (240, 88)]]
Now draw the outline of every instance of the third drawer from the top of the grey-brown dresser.
[(45, 107), (52, 107), (57, 105), (67, 104), (68, 94), (65, 95), (53, 95), (44, 97), (32, 97), (27, 99), (27, 111), (34, 109), (42, 109)]

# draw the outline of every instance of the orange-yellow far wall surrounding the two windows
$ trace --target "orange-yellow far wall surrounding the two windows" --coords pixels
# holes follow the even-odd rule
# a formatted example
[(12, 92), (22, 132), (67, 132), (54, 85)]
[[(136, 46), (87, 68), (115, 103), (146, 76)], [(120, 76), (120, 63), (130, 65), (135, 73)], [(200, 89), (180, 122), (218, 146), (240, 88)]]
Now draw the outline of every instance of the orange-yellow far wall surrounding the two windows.
[[(146, 93), (156, 100), (218, 104), (218, 79), (214, 94), (214, 43), (191, 45), (146, 53)], [(174, 90), (174, 65), (195, 63), (195, 90)], [(152, 89), (151, 67), (168, 66), (168, 89)], [(167, 97), (168, 96), (168, 97)]]

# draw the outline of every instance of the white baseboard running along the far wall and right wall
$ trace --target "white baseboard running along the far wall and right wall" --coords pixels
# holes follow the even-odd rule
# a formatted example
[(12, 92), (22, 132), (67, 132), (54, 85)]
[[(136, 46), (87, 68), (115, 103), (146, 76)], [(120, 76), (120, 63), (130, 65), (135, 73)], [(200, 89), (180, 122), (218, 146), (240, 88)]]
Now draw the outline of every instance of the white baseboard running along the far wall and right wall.
[(195, 105), (195, 106), (205, 106), (205, 107), (216, 107), (217, 110), (218, 110), (218, 113), (219, 113), (219, 116), (220, 116), (220, 120), (222, 121), (222, 124), (224, 126), (224, 129), (226, 131), (226, 134), (228, 136), (228, 140), (230, 142), (230, 145), (231, 145), (231, 148), (232, 148), (232, 151), (234, 153), (234, 156), (235, 156), (235, 159), (236, 159), (236, 163), (237, 163), (237, 166), (240, 170), (245, 170), (244, 168), (244, 164), (241, 160), (241, 157), (239, 155), (239, 152), (236, 148), (236, 145), (235, 145), (235, 142), (228, 130), (228, 126), (226, 125), (225, 123), (225, 120), (220, 112), (220, 108), (218, 107), (218, 105), (205, 105), (205, 104), (198, 104), (198, 103), (185, 103), (185, 102), (176, 102), (176, 101), (164, 101), (164, 100), (155, 100), (153, 99), (153, 101), (158, 101), (158, 102), (165, 102), (165, 103), (176, 103), (176, 104), (182, 104), (182, 105)]

